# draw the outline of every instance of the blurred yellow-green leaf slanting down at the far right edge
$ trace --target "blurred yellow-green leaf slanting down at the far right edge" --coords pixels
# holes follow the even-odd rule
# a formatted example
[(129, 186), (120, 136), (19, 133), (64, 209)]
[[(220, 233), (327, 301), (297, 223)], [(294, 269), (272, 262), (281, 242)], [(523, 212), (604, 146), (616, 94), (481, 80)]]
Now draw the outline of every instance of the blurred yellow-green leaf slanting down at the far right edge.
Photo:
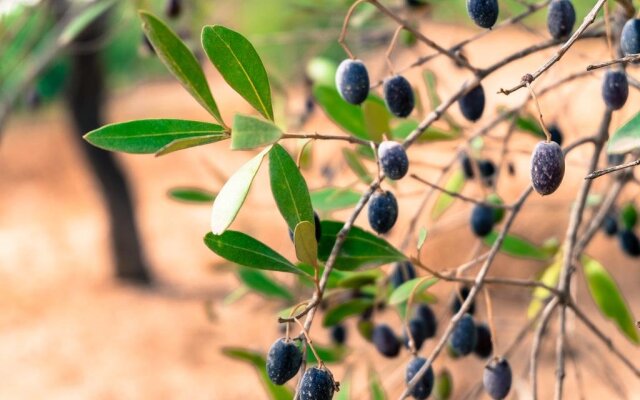
[(583, 256), (582, 265), (589, 293), (602, 314), (613, 320), (631, 342), (640, 344), (633, 315), (613, 277), (593, 258)]

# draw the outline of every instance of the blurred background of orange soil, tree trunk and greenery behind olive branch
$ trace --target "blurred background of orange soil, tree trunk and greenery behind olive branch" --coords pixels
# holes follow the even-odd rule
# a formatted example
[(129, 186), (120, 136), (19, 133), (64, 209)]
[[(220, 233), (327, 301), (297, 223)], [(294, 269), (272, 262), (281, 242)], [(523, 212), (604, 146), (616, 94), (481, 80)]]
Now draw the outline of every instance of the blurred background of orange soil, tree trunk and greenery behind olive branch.
[[(203, 245), (210, 202), (186, 204), (169, 195), (182, 187), (215, 193), (252, 153), (231, 152), (222, 142), (160, 158), (113, 155), (89, 148), (81, 135), (106, 123), (132, 119), (209, 118), (145, 43), (138, 9), (162, 16), (191, 46), (202, 60), (226, 119), (236, 112), (251, 111), (203, 57), (199, 46), (203, 25), (225, 25), (255, 45), (271, 80), (276, 121), (288, 132), (340, 133), (313, 105), (311, 85), (322, 79), (330, 83), (327, 76), (332, 76), (336, 63), (345, 57), (337, 38), (352, 2), (184, 0), (177, 13), (167, 4), (171, 1), (120, 1), (69, 46), (59, 48), (60, 21), (84, 3), (0, 0), (0, 398), (267, 398), (254, 369), (225, 357), (221, 350), (241, 346), (266, 351), (281, 335), (276, 315), (287, 303), (278, 299), (265, 303), (259, 294), (248, 293), (236, 269)], [(478, 33), (466, 17), (464, 0), (430, 0), (426, 6), (411, 9), (404, 1), (384, 3), (442, 45)], [(523, 3), (500, 1), (500, 19), (524, 11)], [(592, 4), (574, 0), (578, 21)], [(544, 40), (548, 37), (545, 17), (542, 10), (524, 23), (491, 33), (465, 49), (465, 55), (477, 65), (489, 65)], [(368, 5), (358, 9), (349, 26), (347, 41), (370, 66), (374, 81), (388, 75), (384, 51), (394, 29)], [(517, 83), (523, 73), (537, 68), (552, 53), (553, 49), (537, 53), (491, 76), (485, 86), (488, 107), (482, 121), (488, 121), (499, 107), (525, 99), (524, 91), (509, 97), (494, 93)], [(425, 54), (430, 50), (403, 36), (392, 59), (395, 65), (407, 66)], [(541, 80), (551, 83), (608, 58), (604, 41), (580, 43)], [(440, 58), (427, 68), (437, 77), (443, 98), (467, 77)], [(542, 100), (545, 117), (563, 128), (567, 142), (597, 129), (604, 108), (599, 99), (599, 74)], [(421, 70), (411, 70), (407, 77), (426, 98)], [(614, 116), (614, 128), (635, 113), (638, 100), (637, 91), (632, 91), (628, 105)], [(428, 112), (428, 104), (424, 107)], [(465, 132), (482, 124), (462, 122), (457, 108), (452, 114)], [(536, 140), (520, 135), (512, 146), (515, 174), (498, 187), (507, 203), (528, 184), (528, 152)], [(305, 170), (311, 189), (364, 188), (362, 183), (353, 183), (346, 162), (336, 158), (339, 147), (342, 145), (332, 142), (314, 144), (312, 161)], [(497, 143), (488, 143), (483, 152), (497, 158), (499, 149)], [(428, 144), (412, 149), (412, 160), (419, 160), (417, 171), (428, 178), (437, 174), (434, 166), (444, 166), (455, 151), (452, 143)], [(556, 194), (527, 203), (515, 224), (518, 235), (540, 245), (550, 238), (562, 240), (568, 210), (586, 168), (585, 154), (586, 150), (578, 150), (569, 157), (566, 184)], [(373, 164), (367, 167), (375, 168)], [(605, 187), (604, 179), (596, 183), (601, 191)], [(403, 182), (395, 190), (401, 199), (401, 215), (389, 240), (398, 245), (420, 202), (422, 187)], [(480, 193), (480, 188), (469, 185), (465, 190), (470, 195)], [(633, 200), (637, 194), (634, 186), (622, 198)], [(286, 225), (273, 212), (264, 171), (248, 202), (234, 229), (292, 256)], [(349, 210), (342, 210), (330, 217), (348, 215)], [(471, 258), (474, 246), (466, 225), (468, 215), (469, 207), (456, 203), (437, 223), (428, 215), (420, 219), (419, 224), (430, 232), (423, 250), (428, 265), (449, 268)], [(358, 224), (368, 228), (364, 219)], [(602, 235), (589, 251), (609, 268), (627, 294), (632, 311), (639, 315), (637, 260), (625, 257), (615, 240)], [(492, 273), (531, 278), (546, 265), (501, 255)], [(281, 282), (288, 283), (286, 278)], [(638, 349), (597, 314), (588, 294), (581, 295), (586, 293), (583, 279), (578, 277), (577, 282), (578, 301), (630, 358), (639, 359)], [(445, 304), (450, 291), (451, 286), (445, 285), (434, 289), (439, 299), (435, 309), (443, 323), (448, 317)], [(526, 323), (531, 294), (501, 288), (492, 295), (498, 345), (506, 347)], [(480, 315), (485, 315), (483, 305), (479, 304)], [(399, 327), (393, 313), (380, 318)], [(578, 325), (572, 322), (569, 339), (575, 348), (569, 362), (568, 398), (640, 398), (640, 383), (618, 361), (609, 359), (606, 349)], [(353, 349), (336, 367), (337, 376), (352, 370), (357, 378), (351, 385), (353, 398), (369, 398), (367, 365), (374, 365), (389, 398), (397, 396), (408, 353), (402, 359), (383, 360), (354, 326), (349, 328)], [(320, 325), (314, 335), (321, 343), (329, 341)], [(512, 363), (516, 375), (513, 398), (527, 398), (528, 344), (525, 341)], [(543, 346), (543, 382), (553, 379), (553, 347), (553, 340)], [(479, 381), (483, 362), (461, 364), (443, 357), (437, 365), (446, 365), (453, 372), (453, 398), (462, 398)], [(541, 386), (543, 398), (549, 398), (552, 385)]]

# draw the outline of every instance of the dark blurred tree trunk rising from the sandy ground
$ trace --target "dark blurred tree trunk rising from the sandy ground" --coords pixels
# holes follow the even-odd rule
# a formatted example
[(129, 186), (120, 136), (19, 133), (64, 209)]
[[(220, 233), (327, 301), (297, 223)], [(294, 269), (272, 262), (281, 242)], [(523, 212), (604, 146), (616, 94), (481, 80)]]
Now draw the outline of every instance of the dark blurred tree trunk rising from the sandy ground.
[[(52, 0), (57, 16), (65, 0)], [(141, 253), (138, 227), (126, 178), (113, 153), (89, 145), (82, 135), (104, 124), (105, 74), (102, 40), (108, 16), (99, 17), (70, 46), (71, 75), (66, 101), (76, 130), (78, 145), (97, 178), (109, 212), (116, 276), (137, 284), (150, 284), (151, 275)]]

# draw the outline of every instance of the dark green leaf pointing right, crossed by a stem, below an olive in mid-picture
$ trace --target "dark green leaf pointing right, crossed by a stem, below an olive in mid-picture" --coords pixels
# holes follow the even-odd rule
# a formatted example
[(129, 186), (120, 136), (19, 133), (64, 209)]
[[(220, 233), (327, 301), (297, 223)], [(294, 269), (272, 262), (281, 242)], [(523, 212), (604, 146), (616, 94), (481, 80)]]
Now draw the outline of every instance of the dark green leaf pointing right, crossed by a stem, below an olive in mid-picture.
[[(342, 222), (322, 221), (322, 239), (318, 246), (318, 258), (321, 261), (327, 261), (329, 258), (342, 226)], [(383, 238), (354, 226), (344, 241), (334, 268), (353, 271), (364, 267), (375, 268), (404, 259), (404, 254)]]

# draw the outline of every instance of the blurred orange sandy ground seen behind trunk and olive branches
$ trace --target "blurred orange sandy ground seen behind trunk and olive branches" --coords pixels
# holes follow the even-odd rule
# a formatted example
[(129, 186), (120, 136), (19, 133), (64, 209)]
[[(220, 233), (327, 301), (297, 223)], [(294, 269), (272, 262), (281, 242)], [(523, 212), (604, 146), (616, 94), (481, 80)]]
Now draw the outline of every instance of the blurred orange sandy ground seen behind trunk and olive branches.
[[(469, 33), (432, 28), (432, 37), (441, 43), (453, 43)], [(488, 65), (522, 43), (535, 40), (538, 37), (531, 33), (512, 30), (490, 35), (467, 55), (472, 62)], [(514, 63), (504, 73), (488, 79), (485, 89), (489, 104), (483, 121), (490, 118), (496, 106), (516, 104), (526, 95), (521, 91), (505, 98), (493, 93), (518, 82), (524, 72), (536, 68), (550, 54), (547, 51)], [(604, 49), (592, 42), (581, 44), (547, 74), (544, 82), (580, 70), (588, 63), (586, 54), (591, 60), (607, 58)], [(399, 64), (404, 65), (413, 57), (409, 51), (402, 55)], [(382, 77), (384, 66), (380, 57), (370, 62), (379, 64), (373, 71), (377, 71), (376, 77)], [(462, 75), (444, 60), (434, 62), (432, 68), (438, 73), (440, 93), (446, 97), (455, 90)], [(224, 99), (219, 103), (227, 119), (234, 111), (248, 112), (241, 99), (217, 76), (210, 75), (216, 96)], [(414, 82), (419, 81), (418, 75), (411, 76)], [(603, 108), (598, 88), (598, 80), (587, 78), (561, 89), (553, 97), (543, 98), (545, 116), (549, 121), (560, 121), (568, 141), (597, 128)], [(637, 93), (632, 93), (629, 104), (616, 113), (615, 126), (635, 112), (639, 99)], [(458, 115), (457, 110), (453, 112)], [(174, 83), (148, 83), (112, 98), (110, 121), (152, 117), (207, 119), (197, 103)], [(321, 112), (314, 115), (307, 129), (335, 131)], [(71, 135), (66, 117), (53, 107), (36, 115), (14, 118), (0, 146), (0, 399), (266, 398), (253, 370), (225, 358), (220, 349), (239, 345), (266, 350), (278, 336), (275, 313), (282, 305), (265, 304), (250, 295), (232, 306), (224, 306), (223, 298), (238, 283), (230, 273), (214, 272), (213, 267), (220, 260), (202, 244), (202, 236), (208, 230), (209, 207), (178, 204), (165, 195), (168, 188), (177, 185), (215, 190), (222, 184), (218, 175), (230, 174), (250, 154), (231, 152), (226, 143), (219, 143), (160, 159), (119, 156), (134, 189), (145, 253), (160, 282), (157, 289), (144, 291), (119, 285), (111, 278), (106, 214)], [(496, 149), (487, 143), (489, 149)], [(533, 144), (533, 139), (523, 136), (514, 148), (527, 150)], [(317, 166), (332, 159), (335, 146), (322, 143), (315, 147)], [(442, 165), (450, 157), (451, 149), (451, 145), (425, 145), (411, 152), (413, 159)], [(516, 233), (538, 243), (551, 236), (562, 237), (567, 210), (584, 174), (587, 154), (587, 149), (581, 149), (569, 157), (567, 179), (557, 194), (545, 199), (534, 196), (527, 203), (524, 215), (515, 224)], [(514, 200), (527, 184), (528, 156), (515, 152), (512, 160), (517, 175), (505, 179), (499, 188), (507, 202)], [(335, 160), (334, 165), (343, 167)], [(425, 177), (434, 174), (432, 169), (420, 166), (412, 171)], [(310, 182), (322, 182), (315, 173), (307, 177)], [(261, 172), (233, 227), (254, 234), (292, 256), (285, 224), (273, 212), (266, 178)], [(351, 177), (341, 177), (338, 183), (350, 180)], [(605, 180), (596, 184), (599, 190), (605, 186)], [(397, 189), (402, 212), (389, 239), (393, 243), (398, 244), (406, 231), (411, 210), (419, 202), (419, 189), (408, 182)], [(471, 185), (467, 191), (478, 194)], [(624, 198), (636, 194), (632, 190)], [(426, 217), (421, 220), (421, 225), (432, 232), (424, 249), (429, 265), (452, 267), (468, 259), (474, 243), (465, 225), (468, 212), (467, 206), (456, 204), (438, 224)], [(335, 217), (344, 215), (338, 213)], [(358, 223), (367, 226), (363, 219)], [(610, 268), (630, 296), (631, 308), (640, 315), (637, 260), (624, 257), (616, 243), (601, 235), (589, 252)], [(526, 278), (543, 267), (540, 263), (499, 256), (492, 273)], [(640, 351), (594, 310), (583, 278), (578, 276), (576, 282), (578, 302), (632, 360), (640, 359)], [(440, 285), (435, 292), (446, 299), (450, 290), (451, 286)], [(504, 349), (524, 323), (529, 293), (522, 290), (492, 293), (498, 348)], [(212, 304), (212, 319), (205, 312), (207, 300)], [(479, 307), (479, 315), (485, 318), (485, 308), (482, 304)], [(446, 317), (444, 307), (436, 309), (441, 317)], [(380, 319), (398, 326), (392, 313)], [(555, 331), (555, 323), (552, 325)], [(579, 368), (576, 370), (573, 361), (569, 361), (567, 398), (640, 398), (640, 382), (607, 355), (605, 348), (579, 322), (571, 320), (569, 329)], [(319, 342), (326, 342), (326, 333), (321, 329), (316, 328), (313, 333)], [(355, 333), (350, 341), (355, 350), (347, 364), (355, 370), (357, 381), (353, 384), (353, 397), (368, 398), (364, 379), (368, 365), (375, 365), (391, 398), (399, 394), (406, 352), (401, 359), (383, 360)], [(553, 392), (554, 344), (554, 340), (547, 340), (543, 347), (541, 398), (550, 398)], [(428, 343), (426, 351), (432, 346), (433, 343)], [(526, 342), (524, 350), (512, 360), (515, 383), (511, 398), (528, 398), (528, 348)], [(436, 369), (445, 365), (454, 372), (454, 398), (460, 398), (481, 377), (482, 362), (478, 360), (452, 361), (442, 357)], [(340, 378), (344, 368), (335, 371)], [(614, 389), (604, 384), (607, 381), (613, 383)]]

